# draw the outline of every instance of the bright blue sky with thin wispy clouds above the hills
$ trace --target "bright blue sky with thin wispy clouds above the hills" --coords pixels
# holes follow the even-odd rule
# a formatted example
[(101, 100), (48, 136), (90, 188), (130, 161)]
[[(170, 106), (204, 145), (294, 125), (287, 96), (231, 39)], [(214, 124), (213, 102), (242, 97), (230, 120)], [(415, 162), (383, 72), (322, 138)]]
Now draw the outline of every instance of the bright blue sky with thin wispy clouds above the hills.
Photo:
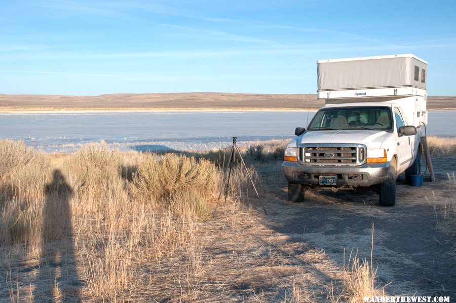
[(413, 53), (456, 95), (456, 1), (0, 0), (0, 93), (316, 93), (316, 60)]

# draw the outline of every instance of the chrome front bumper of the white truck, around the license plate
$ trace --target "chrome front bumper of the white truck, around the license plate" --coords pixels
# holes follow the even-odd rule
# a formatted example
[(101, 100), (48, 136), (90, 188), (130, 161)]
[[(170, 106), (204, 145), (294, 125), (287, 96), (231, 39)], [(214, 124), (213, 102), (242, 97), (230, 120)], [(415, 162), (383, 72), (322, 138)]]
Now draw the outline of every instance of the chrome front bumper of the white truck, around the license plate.
[(371, 186), (382, 184), (388, 178), (390, 163), (366, 163), (360, 166), (302, 165), (283, 162), (283, 172), (291, 183), (319, 186), (319, 176), (337, 176), (337, 186)]

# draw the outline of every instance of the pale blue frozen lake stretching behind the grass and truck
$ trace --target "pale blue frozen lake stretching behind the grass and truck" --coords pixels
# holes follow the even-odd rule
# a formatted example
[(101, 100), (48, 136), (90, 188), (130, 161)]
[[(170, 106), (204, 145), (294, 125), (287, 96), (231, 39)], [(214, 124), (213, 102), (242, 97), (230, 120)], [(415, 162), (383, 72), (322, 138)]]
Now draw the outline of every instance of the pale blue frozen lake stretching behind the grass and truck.
[[(47, 152), (104, 140), (122, 150), (201, 150), (242, 141), (288, 139), (315, 112), (147, 112), (0, 114), (0, 139)], [(309, 118), (308, 118), (309, 117)], [(428, 134), (456, 137), (456, 111), (430, 111)]]

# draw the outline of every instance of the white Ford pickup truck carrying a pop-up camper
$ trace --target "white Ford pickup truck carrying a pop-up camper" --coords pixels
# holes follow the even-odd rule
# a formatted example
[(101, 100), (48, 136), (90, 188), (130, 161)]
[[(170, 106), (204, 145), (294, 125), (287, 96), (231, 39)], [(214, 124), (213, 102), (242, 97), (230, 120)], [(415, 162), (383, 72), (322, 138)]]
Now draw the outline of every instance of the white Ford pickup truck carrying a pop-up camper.
[(411, 54), (319, 60), (318, 98), (307, 128), (285, 149), (288, 197), (311, 188), (375, 186), (379, 204), (396, 204), (396, 178), (420, 174), (427, 124), (427, 62)]

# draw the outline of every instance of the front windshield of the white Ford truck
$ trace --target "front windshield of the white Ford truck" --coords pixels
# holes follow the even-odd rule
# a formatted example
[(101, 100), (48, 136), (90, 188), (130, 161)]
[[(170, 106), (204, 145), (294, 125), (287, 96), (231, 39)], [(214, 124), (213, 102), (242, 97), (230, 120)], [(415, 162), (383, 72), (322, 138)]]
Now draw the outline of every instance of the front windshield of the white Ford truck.
[(317, 112), (308, 130), (372, 129), (391, 130), (389, 107), (327, 108)]

